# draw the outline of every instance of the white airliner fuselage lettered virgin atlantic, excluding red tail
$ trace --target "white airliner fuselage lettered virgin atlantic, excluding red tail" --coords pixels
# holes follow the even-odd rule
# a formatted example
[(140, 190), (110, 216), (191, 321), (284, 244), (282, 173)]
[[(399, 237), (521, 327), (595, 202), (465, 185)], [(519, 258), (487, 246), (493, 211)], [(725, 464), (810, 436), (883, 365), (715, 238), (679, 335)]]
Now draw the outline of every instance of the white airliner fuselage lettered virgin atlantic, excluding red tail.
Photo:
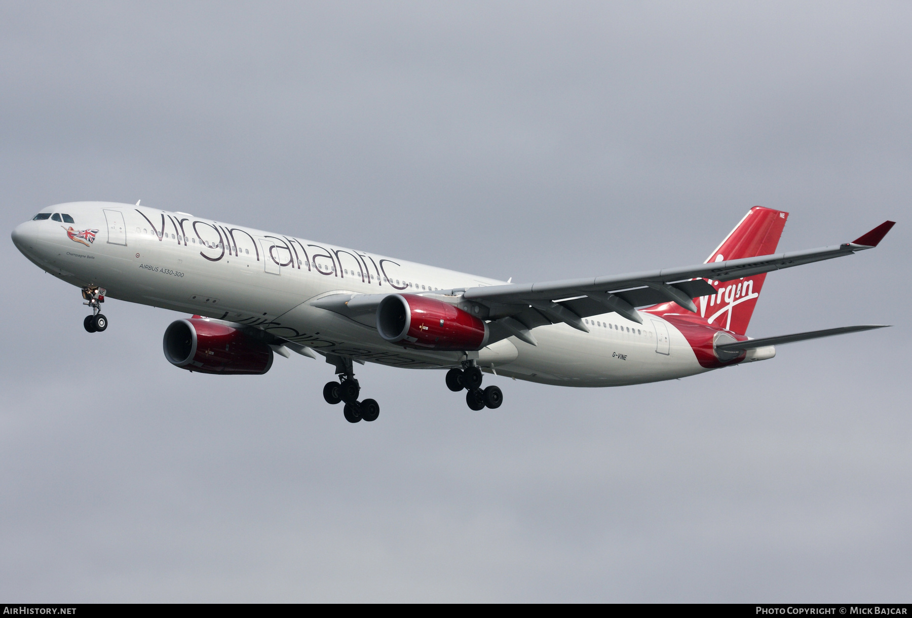
[[(66, 213), (74, 222), (26, 221), (14, 241), (29, 260), (67, 283), (98, 285), (130, 303), (254, 325), (320, 352), (389, 366), (451, 367), (466, 355), (390, 344), (375, 328), (310, 302), (328, 294), (440, 294), (504, 283), (132, 204), (72, 202), (42, 212)], [(97, 231), (93, 242), (71, 238), (86, 230)], [(586, 321), (590, 333), (566, 324), (539, 326), (537, 346), (510, 337), (469, 357), (498, 375), (561, 386), (621, 386), (708, 371), (679, 330), (659, 316), (648, 315), (644, 324), (615, 313)]]

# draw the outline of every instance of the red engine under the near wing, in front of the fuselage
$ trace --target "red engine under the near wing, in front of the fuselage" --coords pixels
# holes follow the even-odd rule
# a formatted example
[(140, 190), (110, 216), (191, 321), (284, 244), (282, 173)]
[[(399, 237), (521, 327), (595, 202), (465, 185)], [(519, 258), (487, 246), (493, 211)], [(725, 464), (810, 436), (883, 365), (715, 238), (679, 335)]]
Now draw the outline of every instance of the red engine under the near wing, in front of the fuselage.
[(481, 350), (488, 325), (459, 307), (417, 294), (389, 294), (377, 307), (377, 330), (393, 344), (440, 351)]

